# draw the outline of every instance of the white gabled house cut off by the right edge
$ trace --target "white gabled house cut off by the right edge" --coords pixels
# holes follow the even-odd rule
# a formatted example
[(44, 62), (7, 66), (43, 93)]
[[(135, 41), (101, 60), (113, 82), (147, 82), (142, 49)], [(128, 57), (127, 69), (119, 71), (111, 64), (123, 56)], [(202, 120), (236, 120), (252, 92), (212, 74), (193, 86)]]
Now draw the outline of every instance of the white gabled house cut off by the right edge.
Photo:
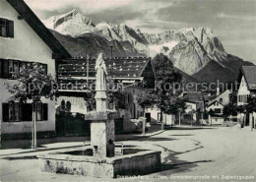
[[(251, 97), (256, 97), (256, 66), (242, 66), (239, 73), (240, 83), (237, 93), (237, 105), (248, 103)], [(244, 126), (256, 128), (256, 113), (238, 114)]]

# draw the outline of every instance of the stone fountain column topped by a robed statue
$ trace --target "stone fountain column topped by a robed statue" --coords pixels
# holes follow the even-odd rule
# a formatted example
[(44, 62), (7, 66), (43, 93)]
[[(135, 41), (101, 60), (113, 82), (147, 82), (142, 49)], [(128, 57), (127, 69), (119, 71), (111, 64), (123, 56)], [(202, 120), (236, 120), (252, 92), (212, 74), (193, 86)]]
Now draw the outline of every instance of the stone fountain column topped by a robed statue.
[(96, 112), (92, 114), (91, 146), (96, 157), (114, 156), (114, 117), (106, 106), (106, 67), (102, 53), (96, 59)]

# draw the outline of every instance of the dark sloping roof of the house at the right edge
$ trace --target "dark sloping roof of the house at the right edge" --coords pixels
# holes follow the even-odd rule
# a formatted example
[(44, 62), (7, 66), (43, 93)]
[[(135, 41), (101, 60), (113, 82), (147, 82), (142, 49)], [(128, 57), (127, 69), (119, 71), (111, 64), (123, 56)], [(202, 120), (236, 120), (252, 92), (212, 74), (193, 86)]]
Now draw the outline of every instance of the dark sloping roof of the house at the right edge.
[(242, 74), (249, 90), (256, 90), (256, 66), (242, 66)]

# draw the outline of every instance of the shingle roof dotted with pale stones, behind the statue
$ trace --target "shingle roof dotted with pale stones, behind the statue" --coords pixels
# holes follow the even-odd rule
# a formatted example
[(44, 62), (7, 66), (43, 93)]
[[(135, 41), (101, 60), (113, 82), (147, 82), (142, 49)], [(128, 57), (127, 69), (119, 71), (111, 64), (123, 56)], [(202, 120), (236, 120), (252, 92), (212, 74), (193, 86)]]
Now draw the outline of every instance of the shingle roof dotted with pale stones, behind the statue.
[[(108, 75), (112, 78), (142, 77), (145, 67), (150, 63), (146, 57), (104, 58)], [(87, 62), (89, 62), (89, 77), (96, 77), (96, 58), (72, 58), (63, 60), (66, 64), (58, 67), (59, 77), (87, 77)]]

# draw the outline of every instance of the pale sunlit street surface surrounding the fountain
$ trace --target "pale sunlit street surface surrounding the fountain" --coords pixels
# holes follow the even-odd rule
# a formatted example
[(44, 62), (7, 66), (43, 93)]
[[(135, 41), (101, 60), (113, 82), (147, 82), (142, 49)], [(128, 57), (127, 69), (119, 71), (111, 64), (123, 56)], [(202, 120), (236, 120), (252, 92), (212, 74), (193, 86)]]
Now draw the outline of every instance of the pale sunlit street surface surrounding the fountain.
[[(187, 126), (171, 128), (159, 135), (123, 143), (127, 148), (145, 148), (162, 152), (161, 171), (145, 176), (145, 178), (150, 178), (150, 181), (160, 181), (160, 178), (161, 181), (204, 181), (198, 179), (171, 180), (170, 175), (209, 175), (210, 179), (205, 181), (255, 181), (256, 179), (222, 180), (224, 176), (256, 177), (255, 142), (255, 131)], [(85, 176), (40, 172), (35, 155), (43, 152), (8, 155), (4, 154), (3, 150), (0, 153), (0, 181), (106, 181)], [(116, 179), (107, 181), (112, 180), (117, 181)], [(142, 179), (122, 179), (122, 181), (126, 180), (141, 181)]]

